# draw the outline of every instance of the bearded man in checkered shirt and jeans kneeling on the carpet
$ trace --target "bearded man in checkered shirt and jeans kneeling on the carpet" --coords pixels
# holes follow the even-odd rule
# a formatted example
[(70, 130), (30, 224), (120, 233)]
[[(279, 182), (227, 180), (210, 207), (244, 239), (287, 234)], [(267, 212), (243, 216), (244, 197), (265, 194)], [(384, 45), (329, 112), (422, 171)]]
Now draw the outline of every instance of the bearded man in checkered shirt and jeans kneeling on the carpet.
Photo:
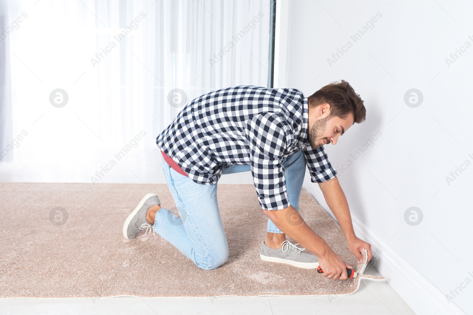
[[(135, 238), (151, 228), (197, 267), (219, 267), (228, 258), (228, 243), (217, 182), (222, 174), (251, 171), (259, 203), (269, 217), (260, 257), (301, 268), (320, 264), (324, 277), (347, 279), (346, 268), (353, 267), (307, 226), (298, 213), (299, 196), (307, 165), (350, 251), (362, 261), (360, 252), (366, 248), (371, 259), (370, 244), (355, 236), (345, 195), (323, 146), (335, 145), (365, 115), (359, 94), (344, 80), (308, 98), (296, 89), (250, 85), (194, 99), (156, 139), (180, 218), (161, 207), (158, 196), (148, 194), (125, 221), (124, 237)], [(298, 244), (286, 241), (286, 235)], [(316, 256), (303, 253), (305, 249)]]

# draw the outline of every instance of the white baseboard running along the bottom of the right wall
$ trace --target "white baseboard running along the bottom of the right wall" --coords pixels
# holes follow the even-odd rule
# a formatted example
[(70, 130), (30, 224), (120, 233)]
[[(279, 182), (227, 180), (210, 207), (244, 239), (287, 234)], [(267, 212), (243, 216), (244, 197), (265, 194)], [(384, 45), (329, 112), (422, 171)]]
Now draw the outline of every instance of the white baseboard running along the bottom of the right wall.
[[(302, 187), (311, 196), (316, 196), (315, 201), (337, 221), (326, 204), (324, 195), (315, 183), (310, 182), (310, 179), (306, 179)], [(445, 294), (408, 264), (403, 257), (398, 255), (392, 247), (379, 238), (353, 213), (351, 213), (351, 219), (357, 237), (371, 244), (373, 255), (374, 249), (382, 249), (381, 254), (377, 255), (377, 259), (374, 259), (375, 268), (381, 275), (386, 277), (386, 281), (416, 314), (466, 314), (453, 301), (448, 303)]]

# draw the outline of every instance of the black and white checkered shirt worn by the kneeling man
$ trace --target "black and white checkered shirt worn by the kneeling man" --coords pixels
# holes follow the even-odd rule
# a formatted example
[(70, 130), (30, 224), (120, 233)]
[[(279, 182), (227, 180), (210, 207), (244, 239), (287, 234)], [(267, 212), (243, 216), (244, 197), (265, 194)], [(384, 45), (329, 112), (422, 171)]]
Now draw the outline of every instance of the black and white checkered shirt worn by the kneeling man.
[(266, 210), (289, 207), (282, 159), (304, 150), (312, 182), (336, 171), (324, 147), (307, 140), (307, 98), (296, 89), (232, 86), (184, 106), (156, 138), (194, 182), (211, 185), (223, 167), (251, 164), (258, 200)]

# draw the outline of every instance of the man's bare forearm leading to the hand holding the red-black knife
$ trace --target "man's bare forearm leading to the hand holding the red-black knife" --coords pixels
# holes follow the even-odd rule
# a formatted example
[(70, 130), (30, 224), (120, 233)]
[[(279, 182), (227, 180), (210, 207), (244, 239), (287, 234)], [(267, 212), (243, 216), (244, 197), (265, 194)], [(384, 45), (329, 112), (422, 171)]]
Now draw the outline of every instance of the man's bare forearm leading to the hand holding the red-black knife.
[(263, 211), (282, 232), (317, 257), (326, 257), (332, 251), (324, 239), (309, 228), (293, 206), (281, 210)]

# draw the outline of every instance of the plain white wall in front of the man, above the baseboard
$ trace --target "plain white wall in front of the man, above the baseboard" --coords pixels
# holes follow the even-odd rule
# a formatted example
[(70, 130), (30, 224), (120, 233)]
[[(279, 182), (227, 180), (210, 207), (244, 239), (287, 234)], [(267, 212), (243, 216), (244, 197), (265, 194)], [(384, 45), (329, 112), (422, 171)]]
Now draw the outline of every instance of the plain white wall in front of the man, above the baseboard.
[[(365, 101), (366, 121), (325, 151), (357, 229), (370, 230), (367, 238), (380, 248), (376, 267), (418, 314), (473, 314), (473, 47), (446, 62), (465, 42), (473, 44), (472, 3), (278, 0), (278, 9), (279, 21), (289, 22), (280, 25), (284, 32), (277, 39), (276, 53), (287, 55), (287, 64), (278, 60), (279, 73), (287, 75), (277, 77), (277, 86), (309, 96), (345, 79)], [(377, 15), (358, 41), (350, 38)], [(352, 47), (333, 58), (347, 42)], [(423, 95), (415, 108), (404, 102), (412, 88)], [(354, 159), (359, 149), (366, 151)], [(342, 170), (348, 160), (352, 165)], [(447, 183), (466, 160), (469, 166)], [(314, 195), (320, 191), (308, 179), (304, 187)], [(316, 200), (328, 210), (322, 194)], [(404, 220), (412, 206), (423, 213), (416, 226)], [(396, 262), (406, 265), (389, 265)], [(410, 289), (418, 296), (406, 293)], [(447, 301), (446, 294), (454, 299)]]

